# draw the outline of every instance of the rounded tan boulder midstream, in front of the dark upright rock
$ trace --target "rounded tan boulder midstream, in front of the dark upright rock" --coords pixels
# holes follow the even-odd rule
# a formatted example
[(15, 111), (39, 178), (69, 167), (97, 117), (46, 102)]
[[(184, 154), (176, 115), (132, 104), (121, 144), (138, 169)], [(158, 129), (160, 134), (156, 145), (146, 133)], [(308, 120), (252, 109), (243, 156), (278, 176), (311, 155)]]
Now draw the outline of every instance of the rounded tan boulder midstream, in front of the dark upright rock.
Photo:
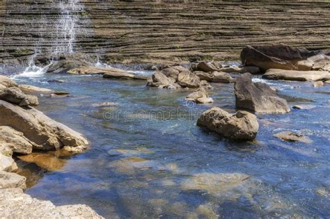
[(219, 107), (205, 111), (198, 118), (197, 125), (233, 140), (253, 140), (259, 130), (256, 115), (246, 111), (230, 114)]

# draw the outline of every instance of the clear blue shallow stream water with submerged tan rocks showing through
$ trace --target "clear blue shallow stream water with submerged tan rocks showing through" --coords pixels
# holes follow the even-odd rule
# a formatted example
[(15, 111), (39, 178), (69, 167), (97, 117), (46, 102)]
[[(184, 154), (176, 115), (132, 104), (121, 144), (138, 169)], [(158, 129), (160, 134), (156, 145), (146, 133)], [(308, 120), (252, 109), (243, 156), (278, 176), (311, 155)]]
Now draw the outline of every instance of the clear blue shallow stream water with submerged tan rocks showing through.
[[(88, 204), (106, 218), (330, 216), (330, 86), (257, 77), (290, 106), (306, 109), (258, 115), (256, 141), (233, 143), (196, 127), (198, 115), (211, 106), (235, 111), (233, 84), (212, 84), (214, 104), (197, 106), (184, 101), (191, 90), (147, 88), (144, 81), (65, 74), (15, 80), (70, 92), (71, 97), (40, 97), (38, 109), (91, 143), (70, 158), (48, 154), (48, 164), (20, 161), (29, 176), (26, 193), (33, 197)], [(116, 106), (92, 105), (101, 102)], [(288, 130), (313, 143), (273, 136)]]

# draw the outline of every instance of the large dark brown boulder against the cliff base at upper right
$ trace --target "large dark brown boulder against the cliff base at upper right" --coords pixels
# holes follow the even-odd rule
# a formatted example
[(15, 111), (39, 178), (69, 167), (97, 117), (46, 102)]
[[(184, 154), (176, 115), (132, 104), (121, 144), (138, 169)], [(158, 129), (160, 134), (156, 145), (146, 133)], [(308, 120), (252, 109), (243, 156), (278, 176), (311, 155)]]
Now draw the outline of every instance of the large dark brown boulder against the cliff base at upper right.
[(241, 60), (246, 66), (258, 66), (262, 70), (270, 68), (299, 70), (296, 63), (315, 54), (306, 49), (298, 49), (284, 44), (247, 46), (242, 49)]

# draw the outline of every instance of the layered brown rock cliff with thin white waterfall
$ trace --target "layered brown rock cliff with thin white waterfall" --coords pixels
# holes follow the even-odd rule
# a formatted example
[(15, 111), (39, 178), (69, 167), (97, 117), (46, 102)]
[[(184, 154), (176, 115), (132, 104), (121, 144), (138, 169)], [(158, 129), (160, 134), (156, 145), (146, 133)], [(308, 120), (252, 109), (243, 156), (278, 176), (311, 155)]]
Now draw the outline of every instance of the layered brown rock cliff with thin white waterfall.
[(0, 58), (72, 50), (110, 61), (219, 60), (238, 58), (246, 44), (324, 49), (329, 10), (326, 2), (1, 1)]

